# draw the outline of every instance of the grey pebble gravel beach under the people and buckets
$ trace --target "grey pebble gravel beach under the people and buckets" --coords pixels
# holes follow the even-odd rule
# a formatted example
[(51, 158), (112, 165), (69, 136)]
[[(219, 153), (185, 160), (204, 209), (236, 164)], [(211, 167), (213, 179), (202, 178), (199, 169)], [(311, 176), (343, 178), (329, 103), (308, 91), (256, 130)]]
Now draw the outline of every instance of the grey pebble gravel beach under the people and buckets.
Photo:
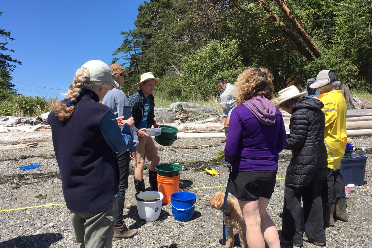
[[(372, 156), (371, 137), (353, 138), (352, 143), (357, 147), (365, 147), (366, 156)], [(170, 204), (167, 204), (162, 206), (157, 221), (141, 220), (133, 197), (135, 190), (131, 162), (124, 217), (129, 228), (138, 228), (139, 235), (132, 239), (113, 241), (112, 246), (224, 247), (221, 244), (222, 213), (212, 209), (208, 203), (209, 197), (215, 192), (225, 191), (227, 167), (214, 160), (217, 152), (223, 151), (224, 144), (219, 139), (178, 139), (171, 147), (157, 146), (161, 163), (180, 163), (182, 166), (180, 189), (197, 195), (194, 215), (188, 222), (177, 222), (173, 218)], [(278, 178), (285, 177), (290, 158), (290, 151), (280, 154)], [(28, 164), (40, 164), (41, 168), (19, 170), (20, 166)], [(214, 168), (220, 175), (206, 174), (206, 167)], [(372, 177), (371, 158), (367, 160), (366, 169), (368, 176)], [(148, 176), (144, 175), (144, 178), (149, 187)], [(35, 148), (0, 151), (0, 183), (0, 210), (61, 203), (56, 206), (0, 212), (0, 248), (78, 246), (70, 222), (70, 212), (63, 204), (61, 180), (52, 142), (39, 143)], [(199, 187), (213, 188), (194, 189)], [(367, 192), (372, 195), (372, 185), (367, 186)], [(268, 213), (278, 230), (282, 227), (283, 194), (284, 180), (278, 179), (268, 207)], [(327, 247), (372, 247), (372, 197), (365, 194), (364, 186), (352, 188), (350, 199), (347, 200), (347, 213), (349, 222), (337, 221), (334, 227), (326, 229)], [(235, 246), (240, 247), (237, 234)], [(304, 241), (304, 247), (315, 245)]]

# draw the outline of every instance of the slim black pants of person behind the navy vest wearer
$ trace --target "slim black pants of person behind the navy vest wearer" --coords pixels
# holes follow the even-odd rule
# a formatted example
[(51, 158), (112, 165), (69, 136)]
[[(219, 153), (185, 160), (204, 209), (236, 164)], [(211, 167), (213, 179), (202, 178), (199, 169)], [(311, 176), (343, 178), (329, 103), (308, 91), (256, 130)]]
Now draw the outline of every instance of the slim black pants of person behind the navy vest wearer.
[(130, 154), (129, 151), (124, 153), (117, 153), (116, 157), (118, 158), (119, 163), (119, 173), (120, 173), (120, 181), (119, 181), (119, 191), (121, 196), (118, 199), (118, 218), (116, 218), (115, 226), (122, 226), (123, 225), (123, 210), (124, 210), (124, 202), (125, 202), (125, 191), (128, 189), (128, 176), (129, 176), (129, 158)]

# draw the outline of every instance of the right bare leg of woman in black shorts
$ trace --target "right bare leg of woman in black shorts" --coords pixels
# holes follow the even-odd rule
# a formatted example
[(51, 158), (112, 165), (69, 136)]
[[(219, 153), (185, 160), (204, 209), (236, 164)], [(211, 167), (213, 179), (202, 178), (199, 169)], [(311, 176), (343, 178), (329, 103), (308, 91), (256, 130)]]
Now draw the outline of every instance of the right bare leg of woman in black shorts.
[(260, 197), (259, 211), (261, 216), (261, 232), (269, 248), (280, 248), (279, 234), (276, 226), (266, 212), (270, 199)]

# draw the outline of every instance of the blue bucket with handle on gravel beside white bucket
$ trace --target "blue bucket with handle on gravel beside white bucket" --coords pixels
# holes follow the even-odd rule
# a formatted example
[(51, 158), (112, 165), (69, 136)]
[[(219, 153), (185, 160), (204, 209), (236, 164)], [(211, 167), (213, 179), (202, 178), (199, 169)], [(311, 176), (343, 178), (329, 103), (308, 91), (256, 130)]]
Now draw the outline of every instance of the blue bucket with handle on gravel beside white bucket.
[(196, 204), (196, 194), (182, 191), (170, 195), (172, 213), (178, 221), (189, 221), (192, 218)]

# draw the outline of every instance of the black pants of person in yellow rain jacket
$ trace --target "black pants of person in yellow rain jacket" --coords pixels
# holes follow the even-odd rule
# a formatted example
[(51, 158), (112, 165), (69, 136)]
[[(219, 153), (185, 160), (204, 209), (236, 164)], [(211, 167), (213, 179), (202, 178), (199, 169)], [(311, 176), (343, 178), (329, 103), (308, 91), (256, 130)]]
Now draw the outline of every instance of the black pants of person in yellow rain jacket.
[(345, 197), (344, 178), (340, 170), (327, 170), (327, 179), (322, 184), (323, 203), (335, 204), (337, 199)]

